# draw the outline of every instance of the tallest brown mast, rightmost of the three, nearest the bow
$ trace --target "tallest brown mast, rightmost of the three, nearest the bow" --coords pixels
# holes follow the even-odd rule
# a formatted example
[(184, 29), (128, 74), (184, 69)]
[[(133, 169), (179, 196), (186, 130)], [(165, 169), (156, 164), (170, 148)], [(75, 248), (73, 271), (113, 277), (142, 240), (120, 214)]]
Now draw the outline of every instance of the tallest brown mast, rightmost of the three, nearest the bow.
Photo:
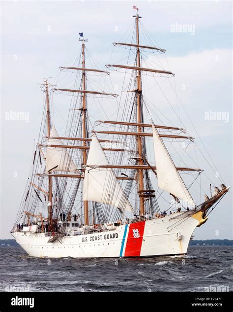
[[(136, 66), (141, 68), (141, 61), (140, 61), (140, 48), (139, 48), (139, 19), (141, 18), (138, 14), (138, 9), (137, 9), (137, 15), (134, 16), (136, 17), (136, 44), (138, 45), (137, 47), (137, 63)], [(141, 124), (142, 123), (142, 83), (141, 83), (141, 70), (137, 71), (137, 123)], [(142, 127), (138, 126), (138, 132), (142, 132)], [(144, 161), (143, 161), (143, 142), (142, 142), (142, 137), (138, 136), (137, 137), (137, 149), (138, 149), (138, 164), (143, 166)], [(143, 169), (138, 170), (138, 193), (141, 194), (142, 191), (144, 190), (144, 179), (143, 179)], [(145, 214), (145, 209), (144, 209), (144, 197), (139, 197), (140, 200), (140, 215)]]

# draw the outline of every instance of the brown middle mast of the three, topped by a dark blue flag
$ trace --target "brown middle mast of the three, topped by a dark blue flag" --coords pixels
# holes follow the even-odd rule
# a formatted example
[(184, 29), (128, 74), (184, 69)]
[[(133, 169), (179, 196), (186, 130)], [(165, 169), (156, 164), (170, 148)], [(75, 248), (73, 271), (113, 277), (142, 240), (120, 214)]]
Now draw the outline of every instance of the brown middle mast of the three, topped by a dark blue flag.
[[(83, 41), (82, 44), (82, 66), (83, 66), (83, 91), (86, 91), (86, 73), (85, 73), (85, 43), (87, 39), (80, 39)], [(87, 138), (87, 99), (86, 93), (83, 93), (83, 107), (82, 107), (82, 126), (83, 126), (83, 138)], [(83, 141), (83, 146), (87, 146), (87, 141)], [(87, 165), (87, 150), (83, 149), (83, 165)], [(88, 214), (88, 201), (84, 201), (84, 216), (85, 216), (85, 225), (89, 225), (89, 214)]]

